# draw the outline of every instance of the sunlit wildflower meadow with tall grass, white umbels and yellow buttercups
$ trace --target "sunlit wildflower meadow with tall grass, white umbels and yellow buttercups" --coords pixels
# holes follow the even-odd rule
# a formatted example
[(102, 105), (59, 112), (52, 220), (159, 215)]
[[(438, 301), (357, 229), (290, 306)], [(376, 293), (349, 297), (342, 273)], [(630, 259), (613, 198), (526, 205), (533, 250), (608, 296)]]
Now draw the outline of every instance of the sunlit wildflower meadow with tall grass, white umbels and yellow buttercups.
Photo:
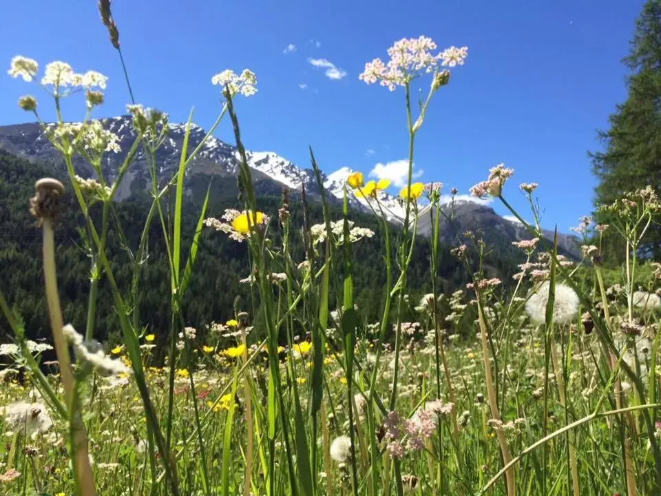
[[(109, 4), (105, 10), (101, 4), (118, 48)], [(70, 183), (40, 180), (31, 200), (43, 231), (52, 340), (30, 341), (30, 329), (0, 293), (14, 332), (13, 342), (0, 348), (7, 358), (0, 387), (5, 493), (659, 493), (661, 266), (648, 261), (647, 285), (638, 279), (641, 242), (660, 209), (655, 192), (642, 189), (600, 207), (610, 226), (583, 219), (577, 229), (583, 258), (568, 260), (542, 236), (533, 196), (538, 185), (520, 185), (534, 218), (528, 224), (504, 196), (514, 171), (496, 165), (471, 193), (501, 201), (529, 230), (529, 240), (515, 243), (525, 258), (521, 272), (511, 285), (487, 275), (489, 247), (479, 233), (465, 233), (453, 254), (472, 281), (451, 295), (439, 293), (442, 185), (412, 183), (415, 138), (432, 99), (450, 82), (447, 68), (463, 65), (468, 49), (436, 51), (426, 37), (402, 39), (388, 50), (387, 63), (375, 59), (360, 76), (405, 96), (409, 168), (399, 193), (401, 230), (393, 229), (392, 212), (379, 200), (388, 181), (366, 183), (360, 173), (346, 178), (342, 218), (331, 218), (312, 152), (324, 223), (311, 225), (304, 191), (302, 225), (293, 225), (286, 193), (277, 215), (258, 211), (235, 107), (235, 98), (257, 91), (257, 79), (249, 70), (226, 70), (212, 79), (223, 105), (209, 135), (229, 117), (243, 205), (207, 217), (207, 194), (192, 240), (182, 236), (184, 185), (204, 141), (190, 150), (186, 138), (178, 171), (160, 181), (156, 150), (167, 138), (167, 114), (133, 103), (127, 110), (136, 140), (106, 177), (101, 165), (105, 154), (120, 151), (117, 136), (91, 114), (103, 103), (107, 79), (94, 71), (77, 74), (62, 62), (46, 66), (41, 86), (54, 100), (58, 122), (42, 123), (43, 130), (61, 152)], [(12, 76), (32, 81), (38, 72), (32, 59), (12, 60)], [(426, 98), (415, 112), (410, 94), (419, 87)], [(85, 118), (67, 123), (61, 101), (78, 91), (85, 92)], [(34, 97), (21, 97), (19, 105), (39, 118)], [(187, 136), (190, 127), (191, 119)], [(111, 228), (121, 232), (114, 197), (138, 150), (150, 158), (153, 203), (140, 242), (126, 247), (134, 260), (132, 282), (120, 287), (106, 245)], [(74, 154), (87, 159), (96, 178), (76, 175)], [(65, 194), (74, 195), (85, 218), (81, 245), (91, 260), (87, 322), (78, 330), (66, 323), (57, 287), (53, 229), (67, 215), (60, 208)], [(353, 245), (374, 233), (348, 220), (352, 196), (372, 209), (384, 234), (387, 287), (379, 322), (362, 322), (353, 299), (359, 264)], [(101, 208), (97, 222), (92, 207)], [(423, 214), (432, 220), (430, 239), (416, 236)], [(169, 329), (152, 329), (135, 307), (152, 223), (162, 231), (171, 274)], [(246, 243), (251, 298), (236, 300), (233, 319), (194, 329), (182, 302), (203, 229)], [(304, 244), (298, 259), (295, 236)], [(620, 236), (626, 245), (622, 278), (609, 286), (600, 266), (603, 236)], [(432, 291), (414, 301), (407, 271), (419, 242), (431, 244)], [(94, 340), (102, 279), (112, 289), (121, 342)], [(331, 294), (342, 296), (337, 308), (330, 308)], [(157, 349), (156, 342), (167, 348)], [(45, 353), (54, 353), (56, 362), (44, 360)]]

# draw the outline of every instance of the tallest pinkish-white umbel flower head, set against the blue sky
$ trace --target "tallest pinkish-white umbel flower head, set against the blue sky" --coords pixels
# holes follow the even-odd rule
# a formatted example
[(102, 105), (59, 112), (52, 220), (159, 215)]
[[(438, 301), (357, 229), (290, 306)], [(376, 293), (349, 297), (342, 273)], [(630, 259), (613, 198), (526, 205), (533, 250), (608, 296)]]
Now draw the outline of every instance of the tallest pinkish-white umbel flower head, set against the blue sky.
[[(390, 60), (384, 63), (381, 59), (374, 59), (365, 64), (365, 70), (359, 75), (359, 79), (368, 84), (379, 81), (381, 86), (388, 87), (393, 91), (397, 86), (404, 86), (412, 79), (422, 74), (439, 73), (439, 60), (442, 65), (463, 65), (467, 48), (448, 48), (441, 54), (434, 55), (431, 52), (436, 50), (437, 45), (431, 38), (402, 38), (395, 41), (392, 47), (388, 48)], [(445, 55), (444, 55), (445, 54)], [(445, 63), (447, 61), (447, 63)], [(439, 87), (441, 83), (447, 83), (449, 72), (443, 72), (441, 79), (434, 78), (434, 83)], [(434, 88), (434, 89), (437, 89)]]

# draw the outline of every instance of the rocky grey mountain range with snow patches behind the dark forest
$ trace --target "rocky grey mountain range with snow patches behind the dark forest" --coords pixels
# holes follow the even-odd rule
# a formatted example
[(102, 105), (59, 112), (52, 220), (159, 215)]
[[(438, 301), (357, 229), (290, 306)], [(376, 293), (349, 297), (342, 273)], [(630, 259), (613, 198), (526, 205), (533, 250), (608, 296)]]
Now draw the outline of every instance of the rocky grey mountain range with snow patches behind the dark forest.
[[(121, 152), (105, 154), (103, 163), (103, 174), (112, 180), (116, 176), (118, 168), (126, 158), (136, 140), (136, 132), (133, 130), (132, 116), (118, 116), (106, 118), (102, 121), (104, 127), (118, 136), (118, 144)], [(181, 150), (186, 131), (185, 124), (171, 123), (167, 132), (167, 138), (156, 152), (156, 164), (158, 180), (165, 183), (178, 169)], [(188, 153), (200, 146), (207, 132), (200, 126), (192, 124), (189, 134)], [(0, 126), (0, 149), (5, 149), (14, 155), (28, 158), (32, 161), (60, 164), (61, 154), (57, 152), (43, 132), (38, 123), (25, 123), (17, 125)], [(252, 152), (246, 151), (246, 158), (253, 171), (255, 189), (260, 194), (278, 194), (283, 187), (300, 191), (305, 187), (311, 198), (319, 198), (319, 187), (313, 169), (304, 168), (288, 161), (275, 152)], [(143, 147), (138, 148), (134, 161), (129, 166), (125, 175), (118, 200), (129, 198), (132, 194), (146, 191), (149, 188), (151, 176), (149, 174), (149, 161)], [(208, 184), (209, 178), (223, 178), (225, 183), (236, 176), (239, 167), (238, 151), (235, 146), (220, 141), (214, 136), (209, 136), (207, 141), (200, 147), (198, 154), (187, 168), (187, 178), (202, 178), (202, 183)], [(83, 158), (74, 157), (74, 168), (83, 177), (94, 177), (95, 172)], [(322, 172), (322, 182), (326, 197), (335, 203), (339, 203), (344, 197), (344, 184), (346, 178), (353, 171), (348, 167), (342, 167), (330, 174)], [(193, 194), (187, 190), (187, 194)], [(401, 223), (405, 216), (405, 209), (397, 196), (388, 192), (379, 191), (379, 203), (387, 218), (393, 223)], [(370, 201), (365, 198), (357, 198), (349, 194), (350, 205), (363, 211), (371, 212), (372, 207), (378, 211), (376, 202), (370, 207)], [(449, 209), (449, 206), (443, 209)], [(466, 230), (482, 229), (488, 231), (494, 240), (520, 240), (529, 238), (527, 232), (516, 223), (496, 214), (487, 205), (463, 201), (454, 205), (457, 225), (443, 224), (441, 227), (441, 238), (453, 242), (457, 233)], [(431, 231), (429, 212), (421, 206), (418, 231), (420, 234), (429, 234)], [(547, 233), (545, 233), (547, 234)], [(491, 236), (493, 235), (493, 236)], [(547, 234), (552, 238), (553, 234)], [(576, 253), (576, 243), (571, 236), (562, 236), (560, 242), (565, 249)]]

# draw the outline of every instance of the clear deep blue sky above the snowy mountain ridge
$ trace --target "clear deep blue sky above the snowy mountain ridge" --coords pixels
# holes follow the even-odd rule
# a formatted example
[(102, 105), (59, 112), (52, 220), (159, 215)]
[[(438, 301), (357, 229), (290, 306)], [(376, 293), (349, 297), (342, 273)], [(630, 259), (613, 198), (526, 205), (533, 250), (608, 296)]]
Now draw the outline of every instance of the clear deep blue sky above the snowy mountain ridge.
[[(359, 81), (366, 61), (387, 60), (387, 48), (402, 37), (424, 34), (441, 50), (467, 45), (465, 65), (434, 96), (417, 136), (421, 180), (467, 193), (504, 162), (516, 170), (506, 198), (529, 218), (516, 185), (539, 183), (543, 225), (567, 231), (591, 211), (587, 150), (598, 149), (596, 130), (607, 127), (627, 96), (620, 59), (641, 6), (640, 0), (116, 0), (112, 8), (139, 103), (169, 112), (171, 121), (185, 121), (194, 107), (194, 121), (208, 127), (220, 110), (211, 76), (250, 68), (259, 92), (238, 103), (246, 147), (307, 167), (312, 145), (328, 173), (351, 167), (368, 174), (377, 163), (406, 157), (403, 92)], [(95, 1), (5, 2), (1, 14), (6, 69), (21, 54), (40, 68), (62, 60), (76, 72), (98, 70), (109, 82), (96, 116), (124, 113), (129, 95)], [(295, 50), (286, 50), (290, 45)], [(333, 63), (335, 78), (310, 59)], [(28, 120), (15, 105), (28, 92), (38, 97), (43, 118), (52, 118), (52, 105), (37, 90), (0, 72), (0, 125)], [(70, 101), (65, 118), (78, 120), (83, 107)], [(216, 135), (233, 143), (229, 123)]]

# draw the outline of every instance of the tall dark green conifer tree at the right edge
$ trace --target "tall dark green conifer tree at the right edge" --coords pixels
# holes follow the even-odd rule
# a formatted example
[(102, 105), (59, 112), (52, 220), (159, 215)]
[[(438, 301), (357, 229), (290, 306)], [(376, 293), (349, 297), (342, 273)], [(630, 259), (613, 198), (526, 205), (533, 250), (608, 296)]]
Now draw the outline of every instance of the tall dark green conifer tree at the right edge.
[[(631, 50), (622, 62), (631, 70), (629, 97), (609, 117), (610, 129), (599, 132), (605, 152), (590, 154), (599, 179), (597, 203), (611, 203), (647, 185), (661, 194), (661, 0), (648, 0), (643, 6)], [(644, 249), (661, 258), (658, 223), (650, 227)]]

